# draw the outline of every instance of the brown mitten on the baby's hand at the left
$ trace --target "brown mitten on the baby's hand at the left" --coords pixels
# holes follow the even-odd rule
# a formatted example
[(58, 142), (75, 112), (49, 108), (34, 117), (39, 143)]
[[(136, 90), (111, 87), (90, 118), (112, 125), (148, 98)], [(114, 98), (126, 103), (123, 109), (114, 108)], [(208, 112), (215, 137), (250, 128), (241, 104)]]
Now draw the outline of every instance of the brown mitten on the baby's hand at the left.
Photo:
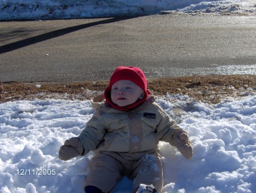
[(81, 156), (83, 152), (81, 141), (78, 137), (72, 137), (64, 142), (60, 147), (59, 158), (60, 160), (67, 161), (76, 156)]

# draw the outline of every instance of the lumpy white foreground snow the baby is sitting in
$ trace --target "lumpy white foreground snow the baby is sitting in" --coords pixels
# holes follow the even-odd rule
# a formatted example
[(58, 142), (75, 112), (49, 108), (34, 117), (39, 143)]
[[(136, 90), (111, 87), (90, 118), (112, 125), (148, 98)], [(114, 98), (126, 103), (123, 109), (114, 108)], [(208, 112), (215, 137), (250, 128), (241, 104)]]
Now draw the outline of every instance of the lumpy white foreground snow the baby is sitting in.
[[(194, 149), (185, 160), (160, 142), (164, 192), (256, 190), (256, 95), (219, 104), (167, 95), (157, 102), (180, 120)], [(89, 100), (20, 100), (0, 104), (0, 192), (82, 192), (85, 157), (61, 161), (59, 147), (93, 115)], [(123, 178), (113, 192), (131, 192)]]

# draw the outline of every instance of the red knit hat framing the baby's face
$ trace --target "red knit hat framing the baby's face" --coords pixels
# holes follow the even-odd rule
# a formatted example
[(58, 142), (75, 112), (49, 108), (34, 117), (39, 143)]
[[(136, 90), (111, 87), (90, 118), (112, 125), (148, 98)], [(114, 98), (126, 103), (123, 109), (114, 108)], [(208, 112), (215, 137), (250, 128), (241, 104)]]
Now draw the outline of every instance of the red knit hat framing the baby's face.
[[(134, 104), (131, 104), (130, 106), (126, 107), (119, 107), (116, 104), (114, 104), (111, 100), (111, 88), (112, 85), (121, 80), (127, 80), (134, 82), (136, 85), (141, 87), (141, 89), (144, 91), (144, 98), (142, 100), (138, 100)], [(109, 86), (106, 87), (104, 91), (104, 97), (106, 99), (106, 102), (109, 103), (112, 107), (117, 108), (118, 110), (123, 110), (123, 111), (129, 111), (131, 108), (137, 107), (139, 104), (144, 102), (147, 99), (147, 79), (142, 72), (142, 70), (138, 67), (126, 67), (126, 66), (119, 66), (117, 69), (114, 70), (110, 81), (109, 81)]]

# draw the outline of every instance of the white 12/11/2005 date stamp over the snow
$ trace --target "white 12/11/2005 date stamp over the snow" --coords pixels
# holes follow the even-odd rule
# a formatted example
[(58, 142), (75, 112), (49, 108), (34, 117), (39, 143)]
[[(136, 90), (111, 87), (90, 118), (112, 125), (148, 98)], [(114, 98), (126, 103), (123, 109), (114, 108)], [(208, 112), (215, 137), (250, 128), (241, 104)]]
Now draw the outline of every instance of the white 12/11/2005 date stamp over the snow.
[(17, 169), (17, 175), (55, 175), (55, 169)]

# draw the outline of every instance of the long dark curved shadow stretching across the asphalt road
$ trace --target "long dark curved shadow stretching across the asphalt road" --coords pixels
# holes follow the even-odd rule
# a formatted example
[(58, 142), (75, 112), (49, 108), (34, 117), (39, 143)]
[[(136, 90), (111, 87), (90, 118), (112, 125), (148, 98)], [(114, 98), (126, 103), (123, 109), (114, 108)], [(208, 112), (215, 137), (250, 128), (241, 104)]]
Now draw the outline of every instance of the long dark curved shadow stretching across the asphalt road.
[(2, 45), (0, 47), (0, 54), (1, 53), (6, 53), (6, 52), (11, 52), (11, 51), (14, 51), (15, 49), (23, 48), (23, 47), (26, 47), (28, 45), (39, 43), (41, 41), (49, 40), (49, 39), (52, 39), (52, 38), (55, 38), (55, 37), (65, 35), (67, 33), (72, 33), (72, 32), (78, 31), (78, 30), (85, 29), (85, 28), (88, 28), (88, 27), (97, 26), (97, 25), (100, 25), (100, 24), (119, 22), (121, 20), (133, 19), (133, 18), (137, 18), (137, 17), (138, 16), (120, 16), (120, 17), (116, 17), (116, 18), (104, 19), (104, 20), (100, 20), (100, 21), (97, 21), (97, 22), (86, 23), (86, 24), (81, 24), (79, 26), (72, 26), (72, 27), (68, 27), (68, 28), (64, 28), (64, 29), (60, 29), (60, 30), (47, 32), (47, 33), (44, 33), (44, 34), (41, 34), (41, 35), (38, 35), (38, 36), (29, 37), (29, 38), (24, 39), (24, 40), (19, 40), (19, 41), (16, 41), (14, 43)]

